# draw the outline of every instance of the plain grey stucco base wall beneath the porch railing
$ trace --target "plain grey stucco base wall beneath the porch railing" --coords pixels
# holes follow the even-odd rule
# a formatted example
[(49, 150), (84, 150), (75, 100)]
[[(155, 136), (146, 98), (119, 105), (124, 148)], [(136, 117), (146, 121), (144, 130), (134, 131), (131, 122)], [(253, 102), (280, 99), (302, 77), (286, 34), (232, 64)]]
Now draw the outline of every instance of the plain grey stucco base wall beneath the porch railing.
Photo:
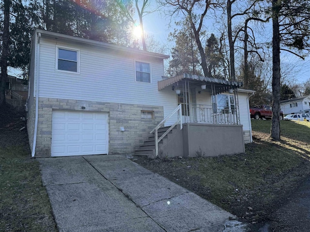
[(183, 126), (184, 156), (213, 157), (245, 152), (242, 125), (186, 123)]

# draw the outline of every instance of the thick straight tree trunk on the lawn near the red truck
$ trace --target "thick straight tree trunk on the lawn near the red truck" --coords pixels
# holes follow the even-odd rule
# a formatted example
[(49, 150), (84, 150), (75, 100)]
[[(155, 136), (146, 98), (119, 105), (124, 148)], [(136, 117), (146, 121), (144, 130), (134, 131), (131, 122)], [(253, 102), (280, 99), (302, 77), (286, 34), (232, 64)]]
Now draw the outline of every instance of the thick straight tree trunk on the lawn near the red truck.
[(272, 119), (271, 138), (280, 140), (280, 32), (279, 0), (272, 0)]

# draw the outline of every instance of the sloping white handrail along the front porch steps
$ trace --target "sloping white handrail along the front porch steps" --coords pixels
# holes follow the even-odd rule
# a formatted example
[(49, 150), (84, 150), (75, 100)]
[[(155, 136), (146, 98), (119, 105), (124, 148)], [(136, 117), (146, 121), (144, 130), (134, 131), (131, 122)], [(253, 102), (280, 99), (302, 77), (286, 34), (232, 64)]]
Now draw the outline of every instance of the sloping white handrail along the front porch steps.
[[(171, 116), (177, 114), (178, 120), (165, 132), (162, 136), (158, 138), (158, 129), (165, 124), (167, 120), (171, 118)], [(170, 115), (168, 115), (164, 120), (162, 120), (150, 133), (153, 133), (155, 131), (155, 153), (156, 156), (158, 156), (158, 143), (177, 125), (180, 124), (180, 130), (183, 128), (183, 122), (182, 122), (182, 105), (178, 105)]]

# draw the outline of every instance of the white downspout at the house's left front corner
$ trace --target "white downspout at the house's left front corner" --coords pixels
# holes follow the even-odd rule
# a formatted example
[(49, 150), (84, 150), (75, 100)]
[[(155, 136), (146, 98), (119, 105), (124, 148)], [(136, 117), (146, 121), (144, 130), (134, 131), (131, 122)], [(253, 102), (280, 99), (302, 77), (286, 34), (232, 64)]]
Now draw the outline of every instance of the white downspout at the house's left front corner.
[(31, 157), (34, 157), (35, 154), (35, 146), (37, 142), (37, 131), (38, 131), (38, 110), (39, 110), (39, 77), (37, 75), (37, 59), (38, 54), (40, 52), (40, 39), (41, 39), (41, 33), (35, 34), (35, 41), (37, 41), (37, 44), (34, 46), (34, 80), (36, 81), (35, 85), (35, 120), (34, 120), (34, 133), (33, 133), (33, 144), (32, 144), (32, 152)]

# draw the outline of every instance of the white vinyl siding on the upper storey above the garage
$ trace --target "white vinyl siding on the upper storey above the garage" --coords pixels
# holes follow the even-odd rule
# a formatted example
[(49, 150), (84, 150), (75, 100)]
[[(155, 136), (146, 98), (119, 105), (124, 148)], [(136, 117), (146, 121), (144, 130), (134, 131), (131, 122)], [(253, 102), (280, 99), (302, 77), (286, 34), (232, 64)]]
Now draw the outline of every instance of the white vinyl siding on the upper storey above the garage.
[[(40, 97), (163, 106), (164, 117), (177, 107), (174, 91), (158, 91), (157, 82), (164, 75), (162, 58), (57, 41), (59, 47), (79, 50), (80, 72), (55, 72), (55, 43), (41, 38)], [(152, 84), (135, 81), (135, 60), (151, 64)]]

